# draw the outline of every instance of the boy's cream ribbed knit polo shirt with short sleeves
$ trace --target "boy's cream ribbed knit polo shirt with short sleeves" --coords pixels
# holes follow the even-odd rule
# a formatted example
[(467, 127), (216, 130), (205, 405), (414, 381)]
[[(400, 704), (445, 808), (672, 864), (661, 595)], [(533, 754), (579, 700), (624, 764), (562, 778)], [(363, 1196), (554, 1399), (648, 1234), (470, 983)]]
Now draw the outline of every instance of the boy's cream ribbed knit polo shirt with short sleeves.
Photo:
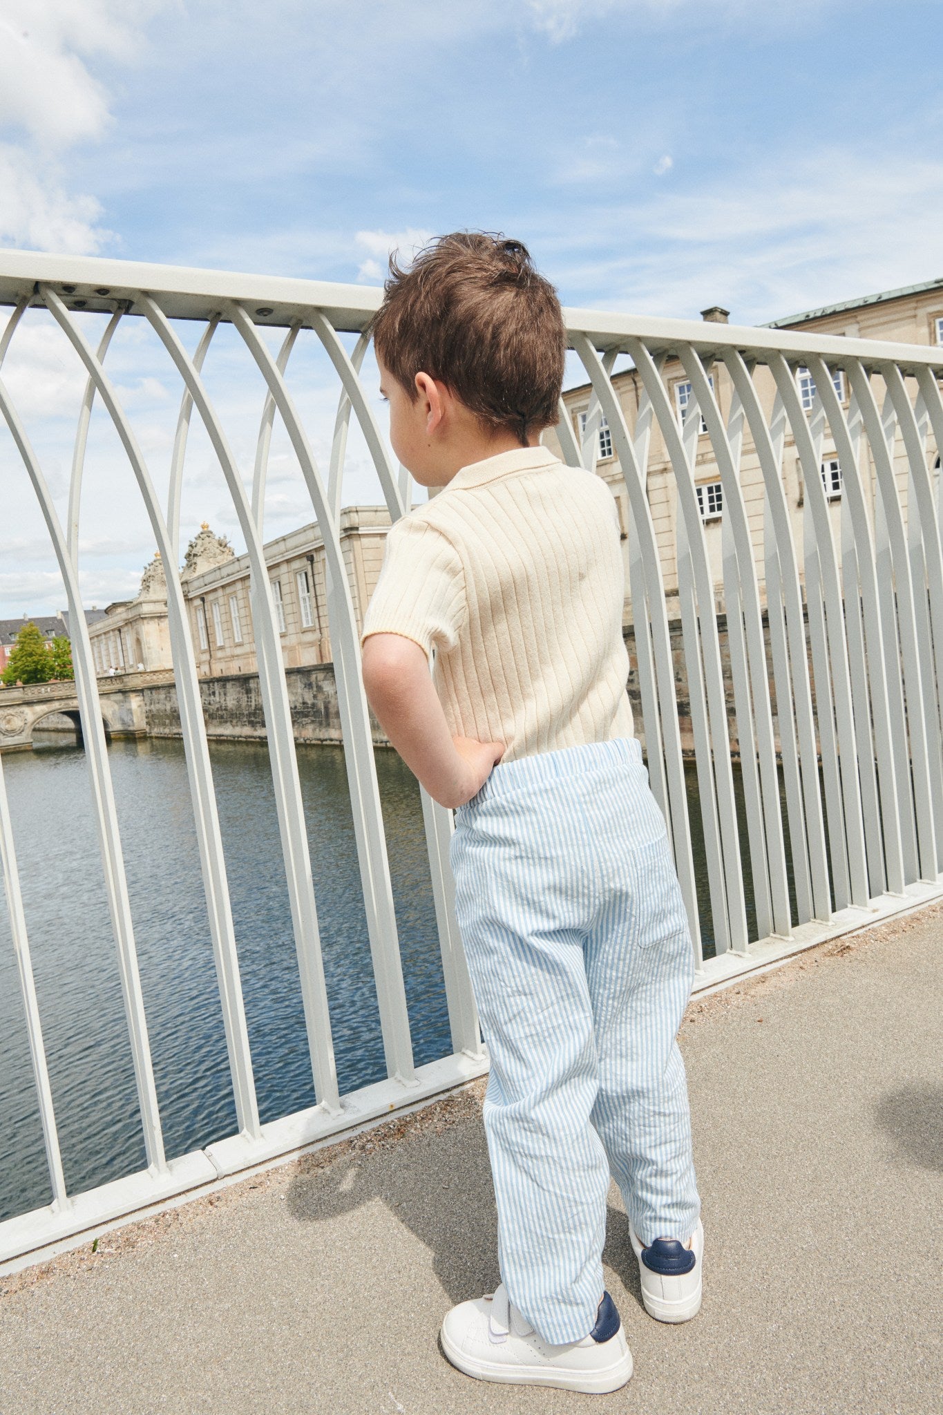
[(450, 732), (503, 761), (632, 736), (619, 514), (546, 447), (462, 467), (389, 531), (363, 618), (427, 655)]

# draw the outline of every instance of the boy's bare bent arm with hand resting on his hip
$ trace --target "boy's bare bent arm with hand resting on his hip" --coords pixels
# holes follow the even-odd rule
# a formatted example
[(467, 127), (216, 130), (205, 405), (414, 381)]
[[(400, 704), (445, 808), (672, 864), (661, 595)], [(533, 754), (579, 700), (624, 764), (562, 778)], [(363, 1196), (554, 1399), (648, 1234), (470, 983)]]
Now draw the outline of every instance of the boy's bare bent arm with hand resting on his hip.
[(451, 736), (424, 649), (403, 634), (369, 634), (363, 686), (383, 732), (433, 799), (445, 807), (471, 801), (505, 746)]

